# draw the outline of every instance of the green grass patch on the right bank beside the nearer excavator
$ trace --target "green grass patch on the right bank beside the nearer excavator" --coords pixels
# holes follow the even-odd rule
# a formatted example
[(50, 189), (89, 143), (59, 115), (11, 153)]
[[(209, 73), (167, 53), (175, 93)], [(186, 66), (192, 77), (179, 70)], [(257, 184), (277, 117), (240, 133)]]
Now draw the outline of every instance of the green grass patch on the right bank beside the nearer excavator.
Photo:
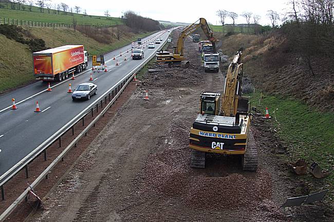
[(253, 106), (262, 113), (266, 106), (269, 108), (272, 118), (268, 124), (275, 128), (287, 148), (287, 155), (282, 155), (286, 162), (304, 158), (309, 164), (316, 161), (323, 170), (330, 172), (321, 180), (309, 174), (299, 178), (306, 180), (314, 190), (319, 191), (317, 186), (322, 186), (334, 195), (334, 114), (320, 113), (298, 100), (269, 95), (264, 95), (258, 105), (260, 93), (249, 96)]

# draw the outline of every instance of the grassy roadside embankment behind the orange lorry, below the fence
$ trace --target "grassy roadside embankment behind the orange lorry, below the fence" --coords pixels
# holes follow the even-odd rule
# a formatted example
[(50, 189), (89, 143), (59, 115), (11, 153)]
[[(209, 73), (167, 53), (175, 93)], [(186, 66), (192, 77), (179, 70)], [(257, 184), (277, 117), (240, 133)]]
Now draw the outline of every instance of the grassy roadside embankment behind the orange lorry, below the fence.
[[(101, 43), (94, 38), (89, 38), (85, 34), (74, 31), (73, 29), (63, 28), (38, 28), (24, 27), (29, 31), (29, 35), (41, 38), (45, 41), (46, 47), (52, 48), (66, 44), (83, 44), (85, 49), (92, 54), (106, 53), (116, 48), (124, 46), (139, 37), (143, 37), (150, 33), (134, 34), (132, 32), (124, 32), (117, 40), (115, 32), (112, 29), (104, 36), (94, 36), (95, 38), (108, 38), (112, 43)], [(6, 55), (0, 57), (0, 93), (4, 90), (27, 84), (34, 80), (32, 73), (32, 57), (31, 51), (27, 45), (9, 40), (6, 36), (0, 34), (0, 54)]]

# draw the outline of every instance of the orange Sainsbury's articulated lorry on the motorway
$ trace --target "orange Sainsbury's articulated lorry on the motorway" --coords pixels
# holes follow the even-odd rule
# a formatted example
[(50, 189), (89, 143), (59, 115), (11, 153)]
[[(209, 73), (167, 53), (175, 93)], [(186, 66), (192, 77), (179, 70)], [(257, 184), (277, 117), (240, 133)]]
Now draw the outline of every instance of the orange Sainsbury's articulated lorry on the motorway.
[(37, 80), (62, 81), (73, 72), (87, 68), (88, 53), (83, 45), (65, 45), (33, 52), (34, 76)]

